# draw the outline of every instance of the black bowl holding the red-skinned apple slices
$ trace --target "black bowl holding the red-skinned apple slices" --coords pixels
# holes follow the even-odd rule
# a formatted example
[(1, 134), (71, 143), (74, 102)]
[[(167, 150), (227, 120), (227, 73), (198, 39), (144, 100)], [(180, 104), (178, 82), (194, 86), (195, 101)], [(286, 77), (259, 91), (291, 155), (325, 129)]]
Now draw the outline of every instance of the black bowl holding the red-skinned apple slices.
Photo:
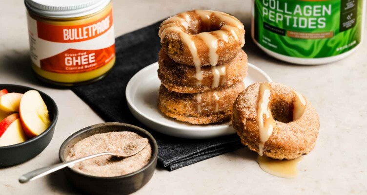
[[(25, 93), (29, 90), (37, 90), (20, 85), (10, 84), (0, 84), (0, 90), (1, 89), (6, 89), (9, 91), (9, 93)], [(47, 106), (51, 125), (40, 135), (25, 142), (0, 147), (0, 167), (13, 166), (30, 160), (40, 154), (51, 142), (59, 116), (58, 107), (50, 96), (46, 95), (42, 91), (37, 91), (40, 92), (41, 97)]]

